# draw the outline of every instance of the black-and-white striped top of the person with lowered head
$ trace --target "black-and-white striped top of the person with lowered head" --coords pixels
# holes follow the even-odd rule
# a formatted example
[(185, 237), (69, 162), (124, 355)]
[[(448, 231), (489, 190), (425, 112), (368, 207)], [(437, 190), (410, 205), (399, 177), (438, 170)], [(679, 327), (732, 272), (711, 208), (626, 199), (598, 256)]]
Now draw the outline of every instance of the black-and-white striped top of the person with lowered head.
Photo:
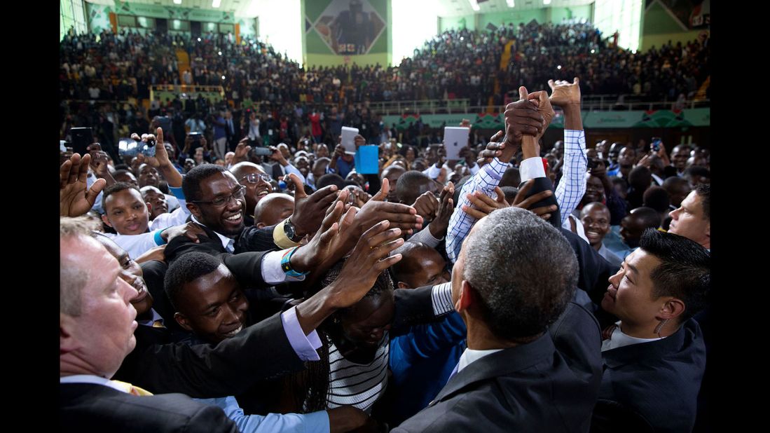
[(346, 360), (329, 341), (329, 394), (326, 401), (330, 409), (352, 405), (367, 414), (371, 413), (373, 404), (385, 394), (387, 388), (388, 341), (386, 332), (369, 364)]

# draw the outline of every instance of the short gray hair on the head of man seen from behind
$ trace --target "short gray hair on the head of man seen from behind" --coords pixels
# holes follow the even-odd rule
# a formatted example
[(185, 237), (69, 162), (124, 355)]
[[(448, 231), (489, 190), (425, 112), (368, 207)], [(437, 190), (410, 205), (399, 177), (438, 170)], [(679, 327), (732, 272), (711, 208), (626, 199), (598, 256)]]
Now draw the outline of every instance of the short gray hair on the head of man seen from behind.
[(482, 319), (497, 337), (532, 341), (574, 294), (574, 250), (551, 224), (517, 207), (496, 210), (478, 225), (463, 245), (463, 277), (480, 297)]

